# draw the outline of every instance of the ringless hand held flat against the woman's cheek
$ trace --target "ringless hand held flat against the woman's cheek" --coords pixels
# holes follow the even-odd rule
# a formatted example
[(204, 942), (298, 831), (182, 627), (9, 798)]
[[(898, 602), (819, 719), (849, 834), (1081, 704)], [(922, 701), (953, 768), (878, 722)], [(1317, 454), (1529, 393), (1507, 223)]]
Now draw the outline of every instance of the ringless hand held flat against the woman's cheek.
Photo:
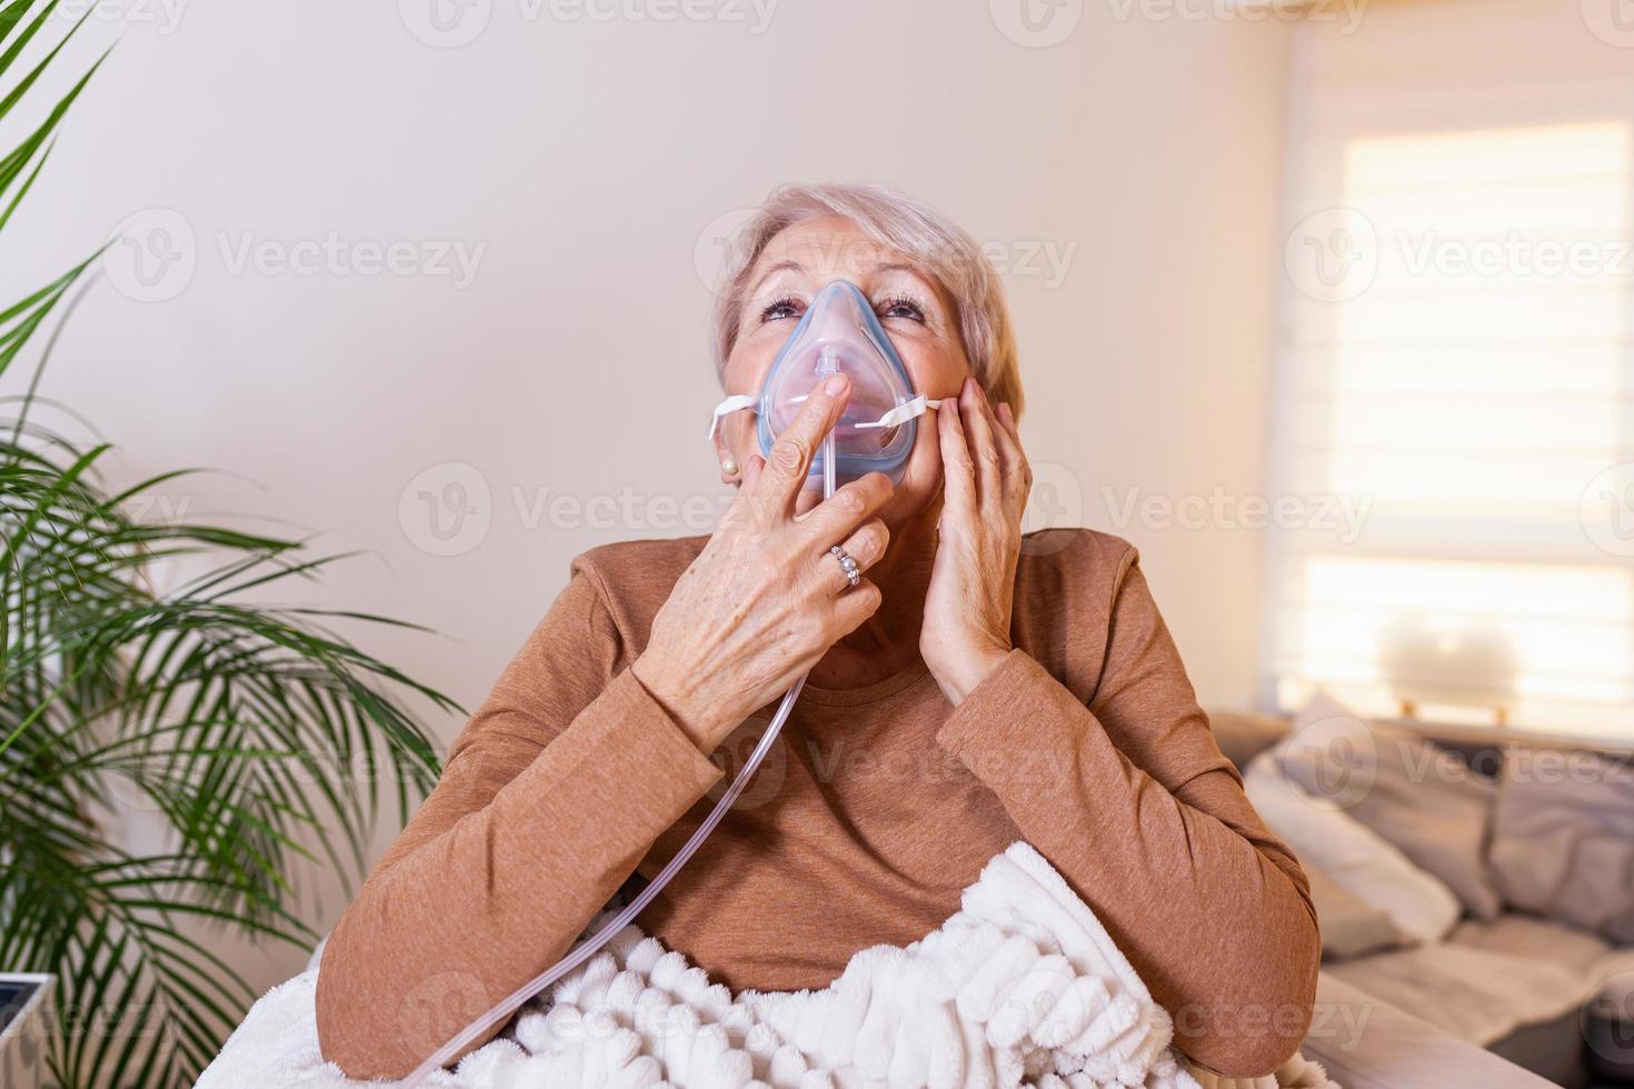
[(1033, 469), (1010, 405), (997, 411), (974, 379), (936, 410), (943, 508), (925, 596), (920, 653), (954, 707), (1010, 653), (1021, 513)]

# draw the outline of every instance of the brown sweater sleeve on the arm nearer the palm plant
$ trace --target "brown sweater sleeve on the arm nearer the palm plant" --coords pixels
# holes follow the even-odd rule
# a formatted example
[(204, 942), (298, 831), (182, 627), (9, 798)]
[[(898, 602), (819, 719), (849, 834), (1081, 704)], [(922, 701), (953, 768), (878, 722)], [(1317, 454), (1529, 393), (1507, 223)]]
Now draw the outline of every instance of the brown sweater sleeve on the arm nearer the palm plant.
[(575, 565), (328, 939), (319, 1038), (350, 1076), (402, 1078), (554, 963), (719, 779), (623, 658)]

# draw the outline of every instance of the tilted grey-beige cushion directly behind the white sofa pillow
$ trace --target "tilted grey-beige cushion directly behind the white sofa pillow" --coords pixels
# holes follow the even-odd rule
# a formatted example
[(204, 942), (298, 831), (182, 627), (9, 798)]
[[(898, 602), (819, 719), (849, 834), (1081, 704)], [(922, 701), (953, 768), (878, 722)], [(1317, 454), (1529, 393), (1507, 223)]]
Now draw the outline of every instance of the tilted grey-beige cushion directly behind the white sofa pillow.
[(1497, 784), (1397, 727), (1364, 722), (1319, 694), (1276, 753), (1288, 777), (1343, 807), (1440, 877), (1476, 916), (1503, 901), (1487, 867)]

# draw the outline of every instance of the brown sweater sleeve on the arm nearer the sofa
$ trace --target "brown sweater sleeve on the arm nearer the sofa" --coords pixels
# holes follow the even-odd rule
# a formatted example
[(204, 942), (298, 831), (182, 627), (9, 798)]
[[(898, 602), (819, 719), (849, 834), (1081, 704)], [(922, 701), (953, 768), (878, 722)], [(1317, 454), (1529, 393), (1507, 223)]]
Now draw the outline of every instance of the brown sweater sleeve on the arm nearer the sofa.
[(1085, 704), (1015, 650), (938, 731), (1226, 1076), (1299, 1047), (1320, 960), (1309, 885), (1221, 754), (1134, 550)]

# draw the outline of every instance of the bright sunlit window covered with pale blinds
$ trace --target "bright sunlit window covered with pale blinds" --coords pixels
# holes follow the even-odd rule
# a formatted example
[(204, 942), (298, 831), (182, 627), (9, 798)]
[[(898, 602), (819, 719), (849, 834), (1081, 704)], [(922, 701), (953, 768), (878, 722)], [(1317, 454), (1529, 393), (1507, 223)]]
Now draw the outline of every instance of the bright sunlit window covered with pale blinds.
[(1629, 121), (1304, 124), (1276, 475), (1366, 521), (1275, 540), (1275, 699), (1634, 733)]

